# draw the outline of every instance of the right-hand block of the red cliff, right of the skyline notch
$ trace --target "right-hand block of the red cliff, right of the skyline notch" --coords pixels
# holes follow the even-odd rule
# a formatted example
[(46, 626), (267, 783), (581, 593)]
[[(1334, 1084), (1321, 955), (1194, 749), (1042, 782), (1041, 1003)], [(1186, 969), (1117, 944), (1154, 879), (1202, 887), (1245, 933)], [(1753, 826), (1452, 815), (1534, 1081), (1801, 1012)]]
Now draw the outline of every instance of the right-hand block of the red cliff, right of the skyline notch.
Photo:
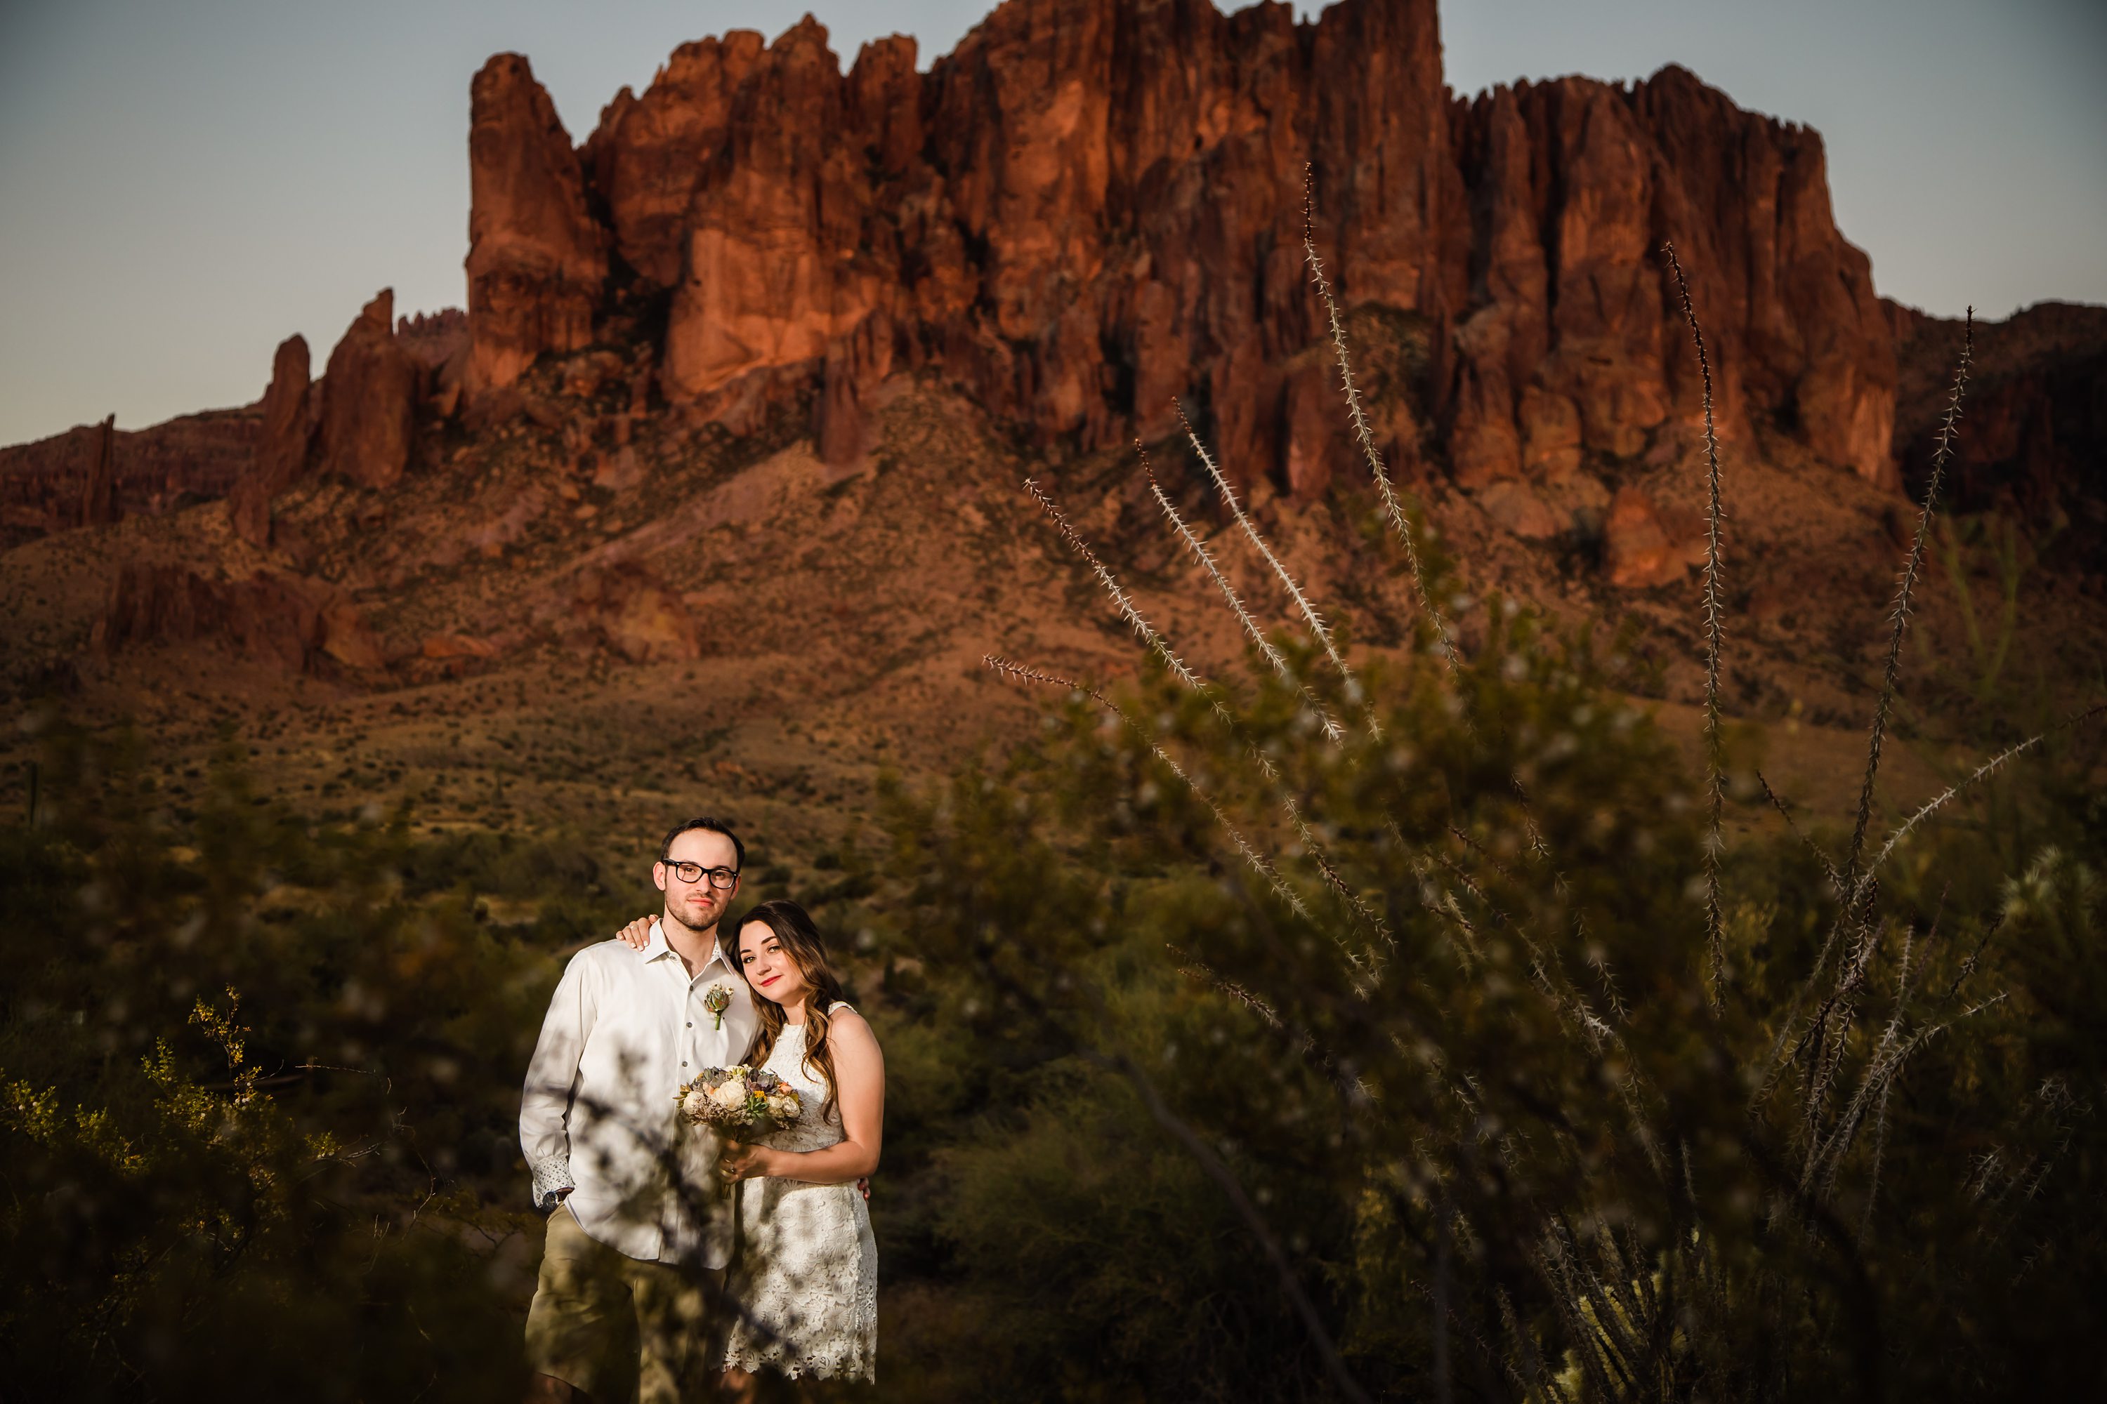
[(1740, 112), (1679, 67), (1458, 105), (1471, 192), (1452, 457), (1471, 478), (1637, 455), (1698, 413), (1698, 366), (1658, 250), (1677, 244), (1726, 438), (1757, 419), (1892, 482), (1894, 337), (1829, 210), (1820, 137)]

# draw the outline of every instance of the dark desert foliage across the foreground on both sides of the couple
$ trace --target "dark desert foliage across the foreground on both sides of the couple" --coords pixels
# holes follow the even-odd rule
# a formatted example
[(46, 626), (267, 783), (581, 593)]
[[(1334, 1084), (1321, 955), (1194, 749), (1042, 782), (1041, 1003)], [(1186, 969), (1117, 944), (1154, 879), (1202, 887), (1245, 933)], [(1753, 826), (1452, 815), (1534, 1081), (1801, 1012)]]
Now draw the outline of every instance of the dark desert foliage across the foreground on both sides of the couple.
[[(1730, 853), (1715, 1006), (1694, 785), (1582, 644), (1513, 619), (1458, 682), (1361, 686), (1380, 739), (1340, 693), (1342, 743), (1287, 686), (1230, 733), (1159, 680), (1146, 741), (1072, 699), (851, 850), (822, 914), (891, 1069), (881, 1393), (2096, 1383), (2082, 733), (1898, 846), (1827, 960), (1825, 859)], [(310, 829), (232, 760), (171, 827), (124, 741), (51, 741), (0, 829), (11, 1393), (516, 1398), (518, 1076), (634, 876)]]

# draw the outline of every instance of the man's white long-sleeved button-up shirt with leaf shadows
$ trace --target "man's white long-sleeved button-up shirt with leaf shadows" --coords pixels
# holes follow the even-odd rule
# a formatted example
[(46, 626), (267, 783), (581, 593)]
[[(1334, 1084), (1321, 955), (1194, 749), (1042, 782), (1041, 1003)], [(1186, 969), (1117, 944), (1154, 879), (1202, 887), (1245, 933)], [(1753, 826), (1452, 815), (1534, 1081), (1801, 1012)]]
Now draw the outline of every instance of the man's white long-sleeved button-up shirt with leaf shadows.
[[(723, 1019), (704, 1006), (712, 989), (725, 991)], [(569, 1187), (571, 1215), (609, 1248), (647, 1263), (723, 1267), (716, 1147), (681, 1124), (674, 1092), (704, 1067), (744, 1059), (759, 1025), (723, 943), (693, 979), (657, 922), (641, 951), (600, 941), (573, 956), (520, 1095), (535, 1204)]]

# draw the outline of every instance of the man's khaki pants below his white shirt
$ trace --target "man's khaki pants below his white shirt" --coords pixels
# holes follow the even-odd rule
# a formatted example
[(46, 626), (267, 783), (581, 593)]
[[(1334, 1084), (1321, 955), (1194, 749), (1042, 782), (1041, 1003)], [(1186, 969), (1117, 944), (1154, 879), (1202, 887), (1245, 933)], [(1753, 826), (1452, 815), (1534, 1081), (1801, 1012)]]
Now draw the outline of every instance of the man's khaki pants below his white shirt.
[(527, 1368), (584, 1389), (594, 1404), (702, 1400), (708, 1295), (723, 1282), (723, 1271), (697, 1278), (617, 1252), (558, 1206), (527, 1309)]

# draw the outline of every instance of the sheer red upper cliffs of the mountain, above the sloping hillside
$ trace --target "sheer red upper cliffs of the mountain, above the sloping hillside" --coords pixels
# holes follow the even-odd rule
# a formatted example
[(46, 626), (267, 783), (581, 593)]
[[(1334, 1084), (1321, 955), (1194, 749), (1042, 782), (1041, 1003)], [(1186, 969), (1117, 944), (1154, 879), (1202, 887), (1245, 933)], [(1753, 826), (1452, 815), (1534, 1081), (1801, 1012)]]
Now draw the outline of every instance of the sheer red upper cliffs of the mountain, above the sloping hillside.
[(820, 440), (933, 370), (1041, 446), (1165, 434), (1315, 495), (1353, 448), (1308, 347), (1304, 166), (1353, 307), (1412, 341), (1391, 453), (1466, 484), (1641, 453), (1696, 415), (1665, 269), (1715, 341), (1728, 434), (1774, 423), (1892, 480), (1894, 337), (1820, 139), (1681, 69), (1452, 99), (1435, 0), (1009, 0), (929, 74), (805, 21), (687, 44), (575, 149), (525, 59), (474, 84), (470, 398), (670, 303), (659, 387), (710, 413), (813, 385)]

